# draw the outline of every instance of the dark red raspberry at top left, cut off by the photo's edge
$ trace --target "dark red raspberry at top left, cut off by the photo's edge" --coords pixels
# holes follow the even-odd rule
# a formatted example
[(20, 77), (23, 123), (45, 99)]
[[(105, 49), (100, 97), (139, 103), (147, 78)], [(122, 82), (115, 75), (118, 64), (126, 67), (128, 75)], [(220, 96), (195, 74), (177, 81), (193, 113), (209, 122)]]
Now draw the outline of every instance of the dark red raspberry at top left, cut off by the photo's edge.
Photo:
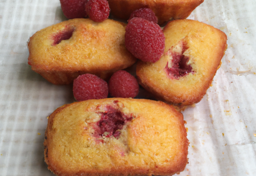
[(86, 17), (85, 2), (87, 0), (60, 0), (60, 6), (63, 14), (68, 19)]

